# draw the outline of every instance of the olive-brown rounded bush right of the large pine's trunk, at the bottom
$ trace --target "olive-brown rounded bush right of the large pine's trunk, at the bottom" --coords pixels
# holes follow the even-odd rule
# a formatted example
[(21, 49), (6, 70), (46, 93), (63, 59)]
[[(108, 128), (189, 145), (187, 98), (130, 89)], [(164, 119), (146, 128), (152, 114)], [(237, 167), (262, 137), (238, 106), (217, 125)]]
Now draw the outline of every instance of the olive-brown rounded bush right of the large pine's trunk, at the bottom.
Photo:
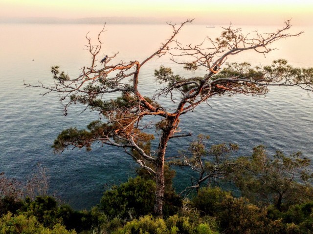
[(220, 188), (202, 188), (191, 204), (201, 215), (215, 216), (223, 233), (280, 234), (284, 230), (281, 220), (268, 219), (265, 210)]

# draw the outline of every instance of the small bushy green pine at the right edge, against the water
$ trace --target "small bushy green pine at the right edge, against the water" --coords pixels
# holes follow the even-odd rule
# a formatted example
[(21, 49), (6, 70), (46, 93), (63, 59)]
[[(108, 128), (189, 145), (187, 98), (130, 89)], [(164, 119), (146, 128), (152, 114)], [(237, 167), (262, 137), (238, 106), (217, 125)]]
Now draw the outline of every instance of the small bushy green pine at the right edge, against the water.
[(265, 147), (258, 146), (251, 157), (238, 158), (236, 165), (232, 177), (236, 186), (256, 204), (273, 203), (281, 210), (283, 202), (288, 206), (313, 199), (312, 186), (303, 184), (312, 178), (307, 169), (310, 159), (301, 153), (285, 156), (276, 152), (268, 157)]

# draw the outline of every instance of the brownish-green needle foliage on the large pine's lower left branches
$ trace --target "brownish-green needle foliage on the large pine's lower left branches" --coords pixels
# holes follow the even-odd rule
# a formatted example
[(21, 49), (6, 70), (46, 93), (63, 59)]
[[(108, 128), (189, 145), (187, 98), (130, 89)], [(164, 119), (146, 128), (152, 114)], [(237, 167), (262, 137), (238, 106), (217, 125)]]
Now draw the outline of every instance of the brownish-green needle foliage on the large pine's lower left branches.
[[(95, 92), (97, 87), (87, 86), (86, 92)], [(95, 94), (96, 95), (96, 94)], [(153, 106), (158, 104), (145, 98), (148, 103)], [(86, 147), (87, 151), (91, 150), (93, 141), (101, 141), (105, 143), (110, 137), (115, 143), (126, 143), (127, 136), (134, 134), (134, 142), (144, 152), (150, 152), (151, 140), (154, 139), (154, 135), (141, 132), (136, 126), (134, 121), (138, 121), (137, 116), (132, 113), (132, 110), (138, 108), (138, 97), (131, 95), (130, 93), (123, 92), (118, 98), (103, 101), (97, 98), (90, 98), (87, 96), (71, 96), (71, 101), (79, 101), (83, 104), (88, 103), (90, 108), (95, 108), (101, 114), (110, 119), (110, 123), (104, 123), (101, 120), (95, 120), (89, 123), (88, 130), (79, 130), (76, 127), (72, 127), (62, 131), (61, 134), (54, 140), (52, 148), (57, 153), (62, 153), (69, 145), (74, 147), (83, 148)], [(111, 143), (111, 142), (110, 142)], [(131, 149), (135, 158), (140, 159), (140, 155)]]

